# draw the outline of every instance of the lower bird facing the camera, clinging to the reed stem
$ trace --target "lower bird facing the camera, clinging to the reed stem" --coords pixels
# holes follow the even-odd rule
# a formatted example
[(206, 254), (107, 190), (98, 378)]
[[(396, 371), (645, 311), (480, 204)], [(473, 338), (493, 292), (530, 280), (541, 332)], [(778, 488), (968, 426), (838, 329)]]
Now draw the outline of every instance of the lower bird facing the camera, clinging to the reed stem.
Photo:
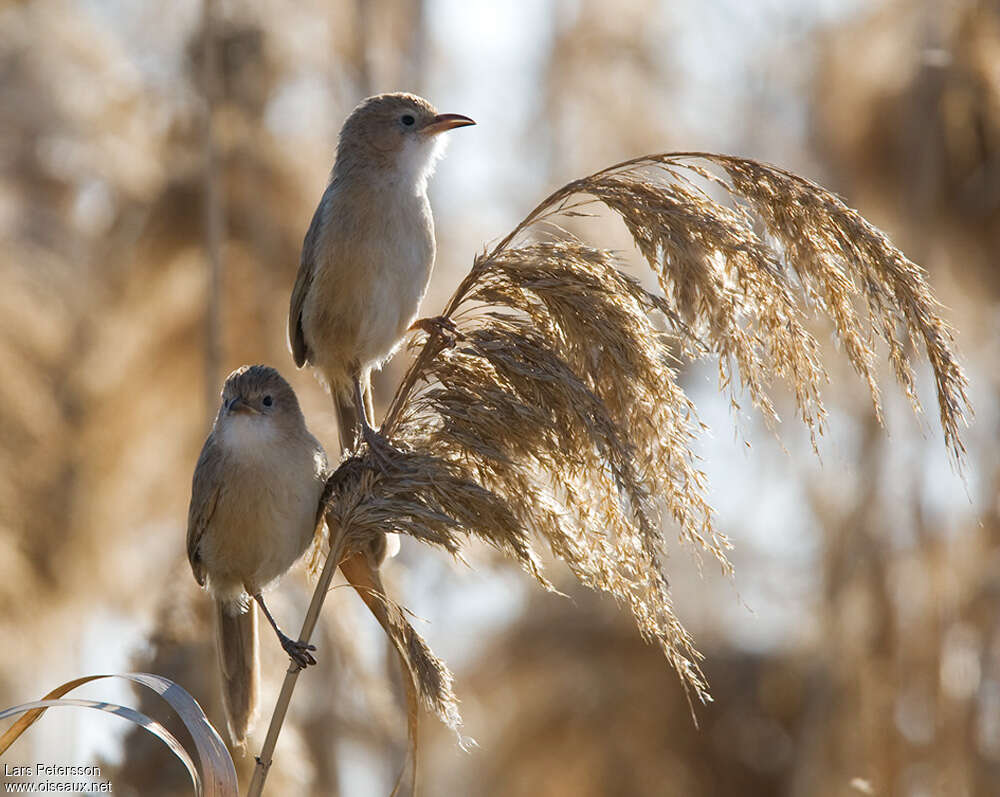
[(302, 556), (323, 522), (327, 458), (274, 368), (236, 369), (221, 398), (191, 482), (187, 554), (215, 601), (223, 705), (230, 736), (243, 747), (260, 681), (254, 604), (295, 665), (316, 663), (314, 645), (278, 627), (263, 590)]

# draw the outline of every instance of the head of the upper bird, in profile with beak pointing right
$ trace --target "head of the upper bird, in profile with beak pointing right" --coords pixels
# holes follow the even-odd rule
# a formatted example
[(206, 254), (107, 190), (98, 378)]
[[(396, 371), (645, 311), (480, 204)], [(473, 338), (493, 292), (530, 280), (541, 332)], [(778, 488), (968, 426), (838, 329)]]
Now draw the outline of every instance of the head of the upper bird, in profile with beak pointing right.
[(369, 97), (340, 130), (334, 174), (410, 183), (423, 193), (443, 151), (441, 134), (474, 124), (468, 116), (438, 113), (415, 94)]

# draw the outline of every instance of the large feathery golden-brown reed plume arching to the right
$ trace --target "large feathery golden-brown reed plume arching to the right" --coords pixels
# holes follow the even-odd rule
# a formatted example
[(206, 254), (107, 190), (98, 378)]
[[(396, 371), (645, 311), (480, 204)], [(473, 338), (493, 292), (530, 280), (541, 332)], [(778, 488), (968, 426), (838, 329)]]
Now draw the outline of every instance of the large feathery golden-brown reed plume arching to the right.
[[(662, 295), (555, 225), (596, 204), (620, 216)], [(714, 357), (722, 389), (734, 402), (745, 390), (772, 425), (771, 391), (784, 381), (815, 447), (828, 377), (812, 314), (832, 319), (879, 413), (876, 342), (915, 410), (923, 349), (960, 467), (971, 410), (941, 308), (924, 272), (836, 196), (708, 153), (646, 156), (568, 183), (476, 257), (390, 405), (383, 432), (398, 451), (384, 472), (364, 449), (341, 465), (331, 527), (357, 547), (392, 530), (455, 555), (474, 536), (551, 589), (535, 550), (544, 543), (626, 605), (707, 700), (671, 603), (664, 521), (726, 572), (730, 544), (713, 523), (692, 451), (702, 424), (678, 367)], [(417, 691), (457, 728), (450, 674), (413, 637), (397, 646), (419, 659)]]

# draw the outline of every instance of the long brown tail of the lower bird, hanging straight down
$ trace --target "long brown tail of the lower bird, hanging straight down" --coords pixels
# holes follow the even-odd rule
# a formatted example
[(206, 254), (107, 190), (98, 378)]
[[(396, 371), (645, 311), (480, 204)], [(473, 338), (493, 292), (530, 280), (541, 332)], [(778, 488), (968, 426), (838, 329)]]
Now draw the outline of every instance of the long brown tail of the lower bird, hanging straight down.
[(222, 671), (222, 705), (226, 709), (229, 735), (239, 747), (246, 746), (247, 732), (257, 713), (260, 668), (257, 663), (257, 607), (252, 603), (242, 614), (215, 602), (216, 643)]

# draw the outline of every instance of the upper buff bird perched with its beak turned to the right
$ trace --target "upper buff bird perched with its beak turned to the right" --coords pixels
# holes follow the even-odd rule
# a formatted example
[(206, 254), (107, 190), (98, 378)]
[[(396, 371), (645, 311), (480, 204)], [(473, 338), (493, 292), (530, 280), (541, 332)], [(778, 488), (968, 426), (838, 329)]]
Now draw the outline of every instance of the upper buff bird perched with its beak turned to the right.
[(386, 452), (374, 428), (372, 369), (408, 330), (450, 328), (446, 319), (417, 320), (435, 254), (427, 182), (443, 154), (442, 134), (474, 124), (397, 92), (363, 100), (341, 128), (302, 245), (288, 341), (295, 365), (311, 365), (329, 389), (343, 451), (360, 434), (377, 458)]

